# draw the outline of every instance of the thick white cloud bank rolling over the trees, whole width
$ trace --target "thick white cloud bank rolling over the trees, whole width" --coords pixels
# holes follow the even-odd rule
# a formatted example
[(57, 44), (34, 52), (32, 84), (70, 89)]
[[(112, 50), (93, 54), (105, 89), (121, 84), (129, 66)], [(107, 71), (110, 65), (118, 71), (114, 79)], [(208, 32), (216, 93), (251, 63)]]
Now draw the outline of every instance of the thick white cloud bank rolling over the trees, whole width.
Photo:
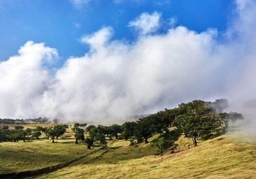
[(159, 34), (161, 14), (143, 13), (129, 24), (136, 41), (111, 40), (114, 30), (104, 27), (80, 39), (90, 46), (87, 54), (68, 59), (53, 75), (45, 64), (57, 51), (29, 41), (0, 63), (0, 118), (112, 123), (220, 97), (254, 110), (256, 2), (237, 1), (236, 13), (223, 37), (186, 27)]

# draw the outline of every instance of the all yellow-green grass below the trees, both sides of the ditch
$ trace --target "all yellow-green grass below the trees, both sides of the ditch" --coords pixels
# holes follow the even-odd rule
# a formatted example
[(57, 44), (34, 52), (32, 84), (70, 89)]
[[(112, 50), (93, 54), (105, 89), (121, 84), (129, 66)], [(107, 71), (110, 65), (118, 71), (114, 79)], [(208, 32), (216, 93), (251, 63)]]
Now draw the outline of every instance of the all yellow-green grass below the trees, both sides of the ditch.
[(101, 150), (75, 144), (70, 132), (56, 143), (44, 136), (29, 142), (4, 142), (0, 143), (0, 173), (44, 168), (95, 151), (67, 167), (30, 178), (255, 178), (256, 143), (241, 142), (236, 135), (230, 130), (200, 141), (197, 147), (182, 135), (176, 141), (175, 152), (167, 150), (163, 156), (152, 142), (159, 135), (148, 139), (148, 144), (134, 146), (125, 140), (108, 141)]

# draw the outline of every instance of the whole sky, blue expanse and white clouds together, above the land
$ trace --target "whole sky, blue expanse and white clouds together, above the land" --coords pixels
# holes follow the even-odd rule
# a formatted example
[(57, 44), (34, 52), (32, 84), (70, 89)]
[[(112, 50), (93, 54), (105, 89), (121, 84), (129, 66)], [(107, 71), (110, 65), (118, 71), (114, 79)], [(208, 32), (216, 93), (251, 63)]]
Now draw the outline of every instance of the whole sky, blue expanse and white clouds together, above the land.
[(0, 118), (110, 124), (220, 98), (244, 110), (255, 19), (256, 0), (0, 0)]

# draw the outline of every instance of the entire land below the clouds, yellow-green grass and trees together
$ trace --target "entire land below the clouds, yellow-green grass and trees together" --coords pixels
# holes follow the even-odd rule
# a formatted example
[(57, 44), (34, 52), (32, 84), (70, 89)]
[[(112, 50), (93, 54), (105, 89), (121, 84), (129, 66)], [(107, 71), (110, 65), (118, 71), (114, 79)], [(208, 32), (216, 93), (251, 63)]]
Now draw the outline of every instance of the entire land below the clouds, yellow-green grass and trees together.
[(0, 174), (8, 174), (0, 177), (255, 178), (255, 138), (242, 114), (212, 107), (219, 101), (182, 103), (122, 125), (2, 127)]

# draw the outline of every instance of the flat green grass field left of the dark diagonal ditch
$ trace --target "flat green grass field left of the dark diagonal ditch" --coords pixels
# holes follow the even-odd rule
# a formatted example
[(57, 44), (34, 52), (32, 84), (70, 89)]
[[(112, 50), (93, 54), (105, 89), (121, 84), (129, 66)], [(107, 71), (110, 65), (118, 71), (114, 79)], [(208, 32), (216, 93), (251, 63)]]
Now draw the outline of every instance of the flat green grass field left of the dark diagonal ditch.
[(92, 151), (86, 145), (75, 144), (73, 136), (58, 139), (56, 143), (45, 137), (26, 142), (3, 142), (0, 143), (0, 174), (52, 166)]

